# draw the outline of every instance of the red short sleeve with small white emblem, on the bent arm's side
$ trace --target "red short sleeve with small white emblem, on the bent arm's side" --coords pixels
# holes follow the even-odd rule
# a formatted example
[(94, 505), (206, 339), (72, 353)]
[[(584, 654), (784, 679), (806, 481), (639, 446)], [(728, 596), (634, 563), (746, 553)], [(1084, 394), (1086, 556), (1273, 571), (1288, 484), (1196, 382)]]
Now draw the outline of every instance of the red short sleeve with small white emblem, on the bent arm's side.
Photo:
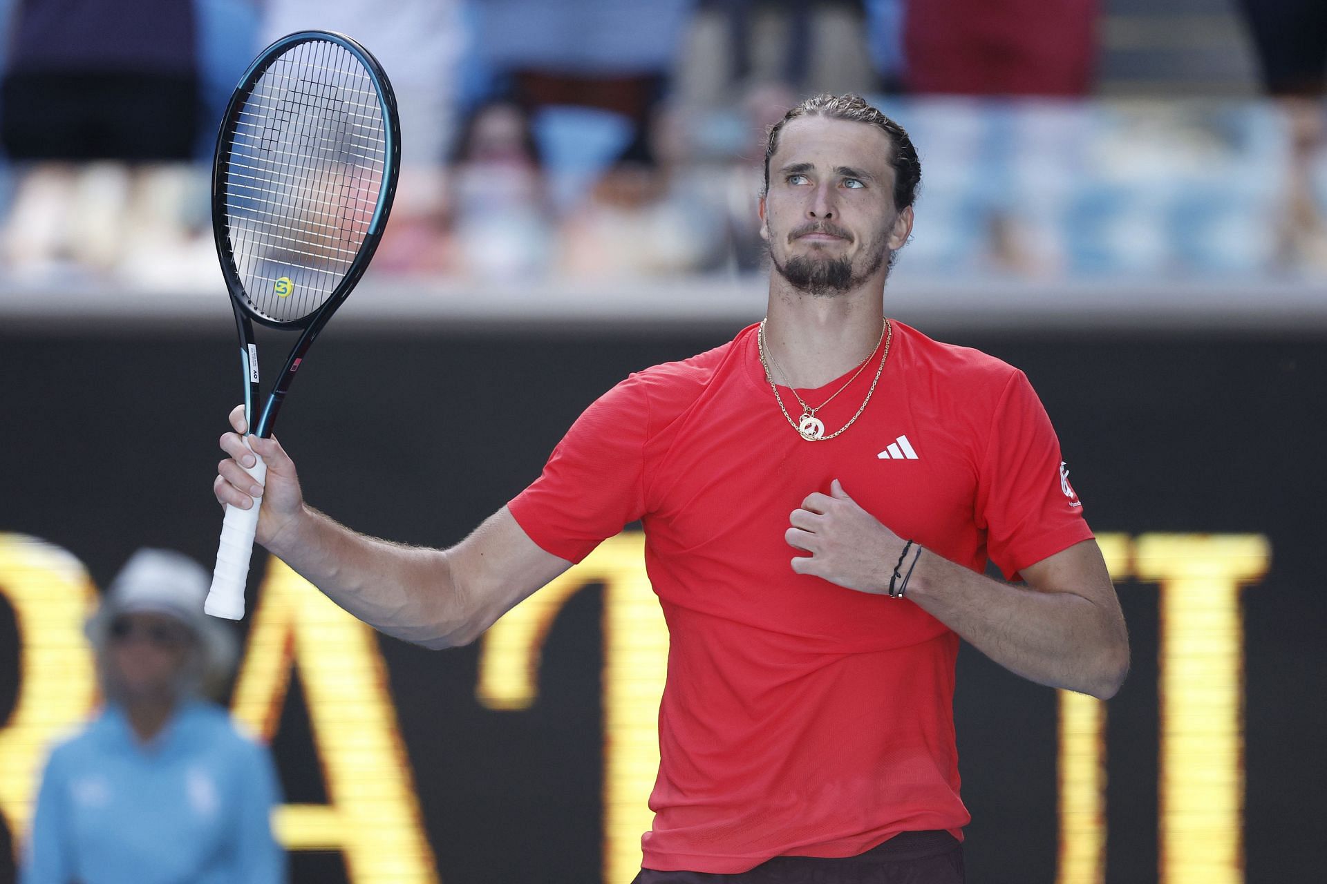
[(977, 489), (977, 525), (1006, 578), (1092, 538), (1068, 484), (1060, 441), (1027, 375), (1015, 371), (991, 417)]

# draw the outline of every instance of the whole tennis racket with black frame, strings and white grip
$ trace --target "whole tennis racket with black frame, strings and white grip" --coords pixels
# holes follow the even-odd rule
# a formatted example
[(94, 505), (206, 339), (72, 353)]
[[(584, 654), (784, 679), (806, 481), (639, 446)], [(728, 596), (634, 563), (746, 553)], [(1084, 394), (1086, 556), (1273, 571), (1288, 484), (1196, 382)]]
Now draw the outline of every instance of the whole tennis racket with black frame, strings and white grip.
[[(272, 433), (309, 345), (369, 265), (399, 160), (391, 83), (354, 40), (288, 34), (240, 78), (216, 138), (212, 231), (240, 334), (249, 433)], [(255, 322), (301, 333), (261, 408)], [(261, 485), (267, 468), (255, 459), (248, 473)], [(259, 502), (226, 508), (207, 614), (244, 616)]]

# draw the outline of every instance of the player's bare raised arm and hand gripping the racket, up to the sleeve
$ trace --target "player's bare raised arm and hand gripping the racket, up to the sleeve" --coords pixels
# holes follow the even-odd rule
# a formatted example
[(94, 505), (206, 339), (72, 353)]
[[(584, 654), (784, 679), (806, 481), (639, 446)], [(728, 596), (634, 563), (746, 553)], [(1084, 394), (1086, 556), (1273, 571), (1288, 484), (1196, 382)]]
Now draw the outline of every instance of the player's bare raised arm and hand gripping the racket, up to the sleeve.
[(236, 463), (252, 457), (239, 435), (243, 406), (231, 412), (231, 425), (235, 432), (222, 436), (230, 457), (218, 467), (216, 500), (248, 509), (260, 497), (257, 542), (387, 635), (427, 648), (467, 644), (571, 567), (531, 541), (506, 508), (446, 550), (352, 531), (304, 502), (295, 463), (276, 439), (248, 437), (267, 461), (265, 489), (256, 486)]

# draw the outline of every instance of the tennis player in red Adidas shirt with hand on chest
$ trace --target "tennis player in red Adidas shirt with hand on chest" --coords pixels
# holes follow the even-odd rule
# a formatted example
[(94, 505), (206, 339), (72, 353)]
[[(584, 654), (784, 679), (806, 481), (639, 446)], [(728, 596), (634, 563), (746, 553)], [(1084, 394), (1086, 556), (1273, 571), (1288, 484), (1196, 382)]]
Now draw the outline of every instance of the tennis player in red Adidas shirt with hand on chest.
[[(356, 616), (441, 648), (640, 518), (671, 637), (637, 880), (961, 881), (958, 636), (1109, 697), (1124, 622), (1023, 374), (884, 317), (920, 179), (906, 133), (821, 95), (771, 130), (766, 168), (766, 322), (605, 394), (450, 550), (336, 525), (280, 445), (251, 440), (259, 539)], [(252, 505), (248, 449), (222, 447), (218, 498)], [(983, 577), (987, 554), (1026, 588)]]

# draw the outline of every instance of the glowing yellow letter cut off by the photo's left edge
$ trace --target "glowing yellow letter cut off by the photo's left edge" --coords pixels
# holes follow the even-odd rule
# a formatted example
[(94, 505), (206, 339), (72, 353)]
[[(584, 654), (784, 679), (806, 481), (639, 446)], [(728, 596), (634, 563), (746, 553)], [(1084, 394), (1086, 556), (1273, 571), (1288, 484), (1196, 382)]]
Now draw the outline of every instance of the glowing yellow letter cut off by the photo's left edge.
[(65, 550), (0, 534), (0, 594), (19, 626), (19, 698), (0, 730), (0, 811), (17, 847), (50, 741), (86, 718), (96, 698), (82, 624), (97, 592)]

